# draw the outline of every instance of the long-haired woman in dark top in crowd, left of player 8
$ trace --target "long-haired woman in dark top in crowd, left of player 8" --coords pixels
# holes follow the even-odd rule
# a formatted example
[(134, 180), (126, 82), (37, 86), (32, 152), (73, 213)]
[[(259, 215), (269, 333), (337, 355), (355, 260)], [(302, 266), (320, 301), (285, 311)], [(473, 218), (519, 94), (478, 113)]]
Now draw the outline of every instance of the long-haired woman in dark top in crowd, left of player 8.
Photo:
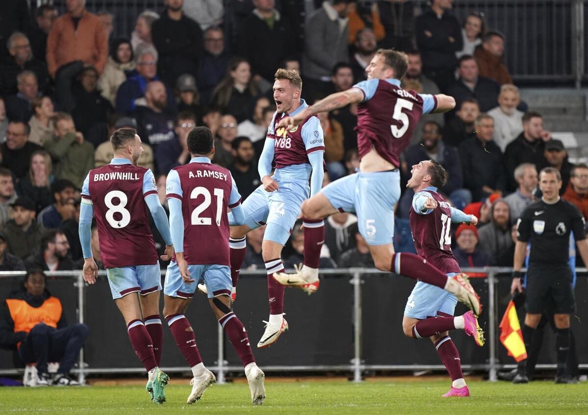
[(32, 200), (35, 212), (40, 212), (53, 203), (52, 180), (51, 156), (45, 150), (36, 150), (31, 154), (29, 172), (18, 182), (16, 193)]

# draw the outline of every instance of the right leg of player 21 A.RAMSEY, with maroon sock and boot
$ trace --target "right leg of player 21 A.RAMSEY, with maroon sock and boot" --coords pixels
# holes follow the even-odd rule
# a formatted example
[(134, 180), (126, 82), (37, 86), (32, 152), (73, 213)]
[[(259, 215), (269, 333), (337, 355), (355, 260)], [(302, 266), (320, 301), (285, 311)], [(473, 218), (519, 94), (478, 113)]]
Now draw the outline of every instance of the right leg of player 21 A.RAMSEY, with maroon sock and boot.
[(219, 320), (219, 324), (225, 329), (230, 342), (235, 347), (235, 352), (239, 355), (241, 363), (243, 363), (251, 392), (251, 403), (254, 405), (262, 404), (265, 400), (265, 386), (263, 384), (265, 374), (255, 363), (255, 357), (253, 357), (249, 343), (249, 335), (245, 327), (230, 309), (231, 300), (229, 296), (219, 295), (215, 298), (210, 298), (208, 301), (216, 318)]

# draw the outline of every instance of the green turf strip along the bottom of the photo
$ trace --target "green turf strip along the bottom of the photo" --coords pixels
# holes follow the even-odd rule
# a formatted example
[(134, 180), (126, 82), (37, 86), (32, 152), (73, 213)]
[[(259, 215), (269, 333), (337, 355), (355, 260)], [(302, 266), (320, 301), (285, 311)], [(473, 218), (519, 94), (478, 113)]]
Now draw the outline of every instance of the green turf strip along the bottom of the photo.
[[(188, 380), (172, 377), (168, 401), (150, 403), (145, 387), (90, 386), (0, 388), (0, 413), (59, 414), (471, 414), (551, 413), (588, 414), (588, 384), (556, 385), (533, 382), (469, 382), (472, 397), (442, 399), (449, 382), (266, 382), (268, 399), (262, 407), (250, 405), (245, 383), (213, 385), (201, 401), (186, 405)], [(180, 412), (182, 411), (182, 412)]]

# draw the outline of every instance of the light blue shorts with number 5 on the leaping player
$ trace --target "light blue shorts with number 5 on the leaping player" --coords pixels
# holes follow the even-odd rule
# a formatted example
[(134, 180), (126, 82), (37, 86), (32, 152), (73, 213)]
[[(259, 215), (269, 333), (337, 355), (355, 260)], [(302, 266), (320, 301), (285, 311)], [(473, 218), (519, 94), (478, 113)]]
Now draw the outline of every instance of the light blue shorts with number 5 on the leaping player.
[(400, 173), (355, 173), (326, 185), (323, 194), (340, 212), (355, 212), (369, 245), (392, 244), (394, 207), (400, 198)]

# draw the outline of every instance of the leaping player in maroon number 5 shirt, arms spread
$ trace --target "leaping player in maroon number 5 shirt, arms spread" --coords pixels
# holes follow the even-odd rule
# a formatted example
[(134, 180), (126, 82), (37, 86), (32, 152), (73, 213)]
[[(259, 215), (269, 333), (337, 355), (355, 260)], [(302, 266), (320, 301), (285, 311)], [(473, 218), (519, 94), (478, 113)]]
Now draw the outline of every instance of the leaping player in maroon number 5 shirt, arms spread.
[(358, 103), (360, 172), (333, 181), (302, 204), (304, 221), (315, 224), (305, 225), (304, 265), (296, 274), (281, 272), (274, 278), (280, 284), (301, 288), (318, 282), (320, 247), (325, 239), (322, 219), (337, 212), (356, 212), (359, 232), (369, 244), (377, 269), (439, 286), (455, 294), (477, 315), (479, 298), (462, 276), (447, 278), (418, 255), (395, 254), (392, 245), (394, 207), (400, 197), (400, 153), (410, 143), (423, 114), (455, 107), (453, 97), (401, 89), (400, 80), (407, 66), (405, 53), (379, 49), (366, 68), (368, 80), (279, 121), (276, 128), (292, 129), (312, 114)]

